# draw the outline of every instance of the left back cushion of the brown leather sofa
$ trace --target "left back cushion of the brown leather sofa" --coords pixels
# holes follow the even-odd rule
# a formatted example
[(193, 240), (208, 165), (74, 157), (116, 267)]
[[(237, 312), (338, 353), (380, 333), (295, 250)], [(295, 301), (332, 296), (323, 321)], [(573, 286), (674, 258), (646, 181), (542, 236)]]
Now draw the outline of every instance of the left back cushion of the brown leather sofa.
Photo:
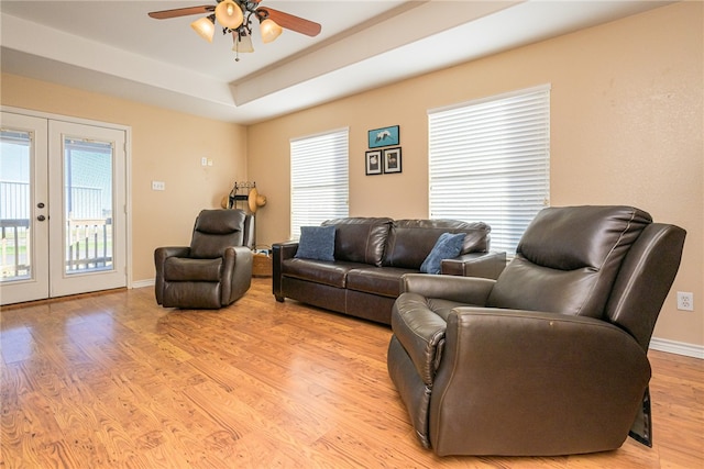
[[(349, 217), (322, 222), (334, 226), (334, 259), (380, 267), (393, 220), (387, 217)], [(432, 246), (431, 246), (432, 247)]]

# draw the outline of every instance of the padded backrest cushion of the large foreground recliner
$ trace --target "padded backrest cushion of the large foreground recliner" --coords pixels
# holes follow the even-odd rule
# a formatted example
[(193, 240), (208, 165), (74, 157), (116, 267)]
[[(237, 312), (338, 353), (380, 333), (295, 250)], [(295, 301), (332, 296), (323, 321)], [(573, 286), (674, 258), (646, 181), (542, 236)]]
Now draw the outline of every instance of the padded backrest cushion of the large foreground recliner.
[(487, 305), (604, 317), (624, 258), (651, 216), (631, 206), (543, 209)]

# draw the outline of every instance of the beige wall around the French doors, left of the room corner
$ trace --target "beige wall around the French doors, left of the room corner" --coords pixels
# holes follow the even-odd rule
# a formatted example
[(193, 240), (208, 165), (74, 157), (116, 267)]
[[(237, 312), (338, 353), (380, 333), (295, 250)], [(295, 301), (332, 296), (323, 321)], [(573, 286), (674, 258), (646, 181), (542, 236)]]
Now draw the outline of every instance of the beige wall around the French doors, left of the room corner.
[[(2, 105), (131, 126), (132, 278), (154, 278), (154, 248), (188, 245), (201, 209), (217, 208), (246, 179), (240, 125), (166, 111), (66, 87), (2, 75)], [(200, 158), (213, 160), (201, 167)], [(166, 182), (163, 192), (152, 180)], [(51, 202), (51, 201), (50, 201)]]

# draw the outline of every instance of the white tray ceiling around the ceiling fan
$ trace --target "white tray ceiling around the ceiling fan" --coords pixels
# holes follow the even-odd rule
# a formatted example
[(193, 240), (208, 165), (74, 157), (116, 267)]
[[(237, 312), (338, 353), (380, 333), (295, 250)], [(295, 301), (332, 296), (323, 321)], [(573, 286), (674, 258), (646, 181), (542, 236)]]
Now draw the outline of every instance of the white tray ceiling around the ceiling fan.
[(147, 12), (216, 0), (0, 1), (2, 71), (250, 124), (670, 1), (262, 0), (322, 25), (234, 60), (189, 24)]

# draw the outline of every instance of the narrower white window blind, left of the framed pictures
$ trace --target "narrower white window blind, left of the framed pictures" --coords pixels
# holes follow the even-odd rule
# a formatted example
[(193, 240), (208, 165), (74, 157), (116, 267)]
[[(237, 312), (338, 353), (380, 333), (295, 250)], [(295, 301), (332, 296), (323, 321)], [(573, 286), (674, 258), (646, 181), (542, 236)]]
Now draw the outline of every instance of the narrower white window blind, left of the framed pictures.
[(349, 129), (290, 141), (290, 236), (349, 215)]

